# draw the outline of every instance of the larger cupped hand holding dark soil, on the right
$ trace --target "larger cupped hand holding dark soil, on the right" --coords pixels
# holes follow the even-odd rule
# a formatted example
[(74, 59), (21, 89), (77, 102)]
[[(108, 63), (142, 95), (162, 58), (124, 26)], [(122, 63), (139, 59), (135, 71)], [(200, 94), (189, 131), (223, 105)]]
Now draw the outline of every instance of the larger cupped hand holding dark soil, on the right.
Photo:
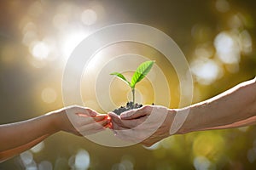
[(112, 128), (117, 137), (150, 146), (170, 136), (176, 111), (159, 105), (146, 105), (125, 111), (120, 116), (108, 115), (112, 118)]

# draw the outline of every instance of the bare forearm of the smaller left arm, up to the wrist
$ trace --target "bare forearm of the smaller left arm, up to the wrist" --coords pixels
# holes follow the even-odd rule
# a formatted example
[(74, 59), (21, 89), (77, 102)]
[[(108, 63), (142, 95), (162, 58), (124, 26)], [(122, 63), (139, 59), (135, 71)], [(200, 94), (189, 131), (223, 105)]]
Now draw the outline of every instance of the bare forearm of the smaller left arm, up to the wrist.
[(54, 121), (55, 114), (49, 114), (23, 122), (0, 125), (0, 153), (57, 132)]

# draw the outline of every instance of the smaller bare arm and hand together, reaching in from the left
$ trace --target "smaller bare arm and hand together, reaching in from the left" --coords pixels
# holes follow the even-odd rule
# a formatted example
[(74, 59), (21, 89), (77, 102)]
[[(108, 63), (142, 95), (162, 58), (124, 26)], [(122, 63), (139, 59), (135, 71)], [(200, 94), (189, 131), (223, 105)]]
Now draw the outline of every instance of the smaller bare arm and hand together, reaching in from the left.
[[(73, 120), (77, 124), (72, 124)], [(54, 133), (97, 133), (108, 127), (109, 122), (106, 115), (74, 105), (23, 122), (0, 125), (0, 162), (29, 150)]]

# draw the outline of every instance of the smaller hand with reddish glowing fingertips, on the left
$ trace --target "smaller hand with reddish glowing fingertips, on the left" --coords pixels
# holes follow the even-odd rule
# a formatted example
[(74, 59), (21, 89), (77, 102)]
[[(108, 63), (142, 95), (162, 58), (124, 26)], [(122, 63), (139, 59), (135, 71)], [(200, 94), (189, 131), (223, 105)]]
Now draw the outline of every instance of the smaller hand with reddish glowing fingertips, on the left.
[(79, 136), (98, 133), (110, 123), (108, 115), (98, 114), (90, 108), (77, 105), (54, 111), (54, 113), (57, 115), (55, 118), (57, 129)]

